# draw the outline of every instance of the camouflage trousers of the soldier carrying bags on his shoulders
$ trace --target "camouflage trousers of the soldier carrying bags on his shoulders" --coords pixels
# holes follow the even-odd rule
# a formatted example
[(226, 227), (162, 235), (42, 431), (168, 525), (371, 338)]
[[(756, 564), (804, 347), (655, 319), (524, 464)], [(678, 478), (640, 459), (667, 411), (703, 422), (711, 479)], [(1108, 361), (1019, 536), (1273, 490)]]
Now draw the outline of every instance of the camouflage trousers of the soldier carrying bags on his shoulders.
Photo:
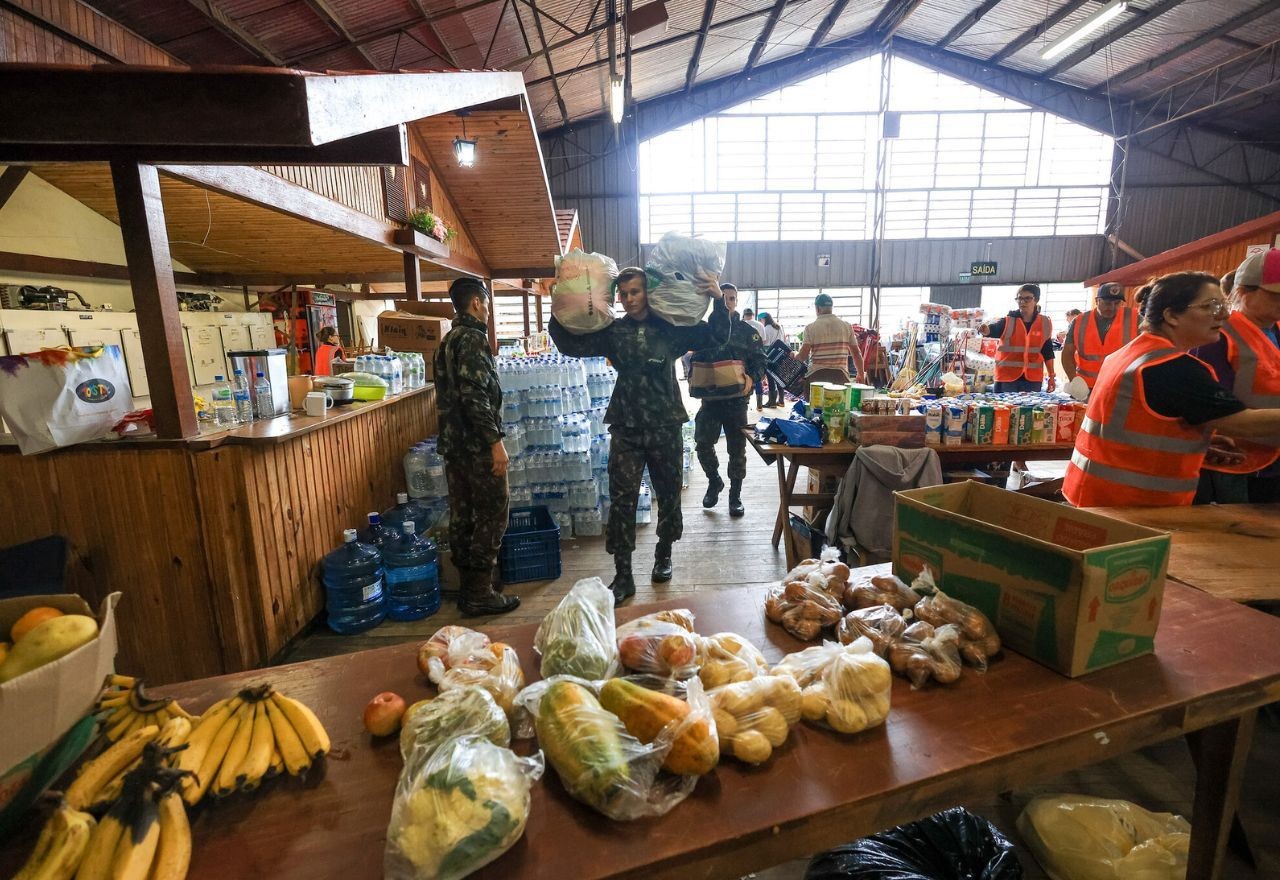
[(680, 512), (685, 448), (680, 425), (609, 427), (609, 524), (604, 547), (618, 555), (636, 549), (636, 503), (640, 477), (649, 466), (649, 487), (658, 508), (658, 540), (675, 542), (685, 530)]

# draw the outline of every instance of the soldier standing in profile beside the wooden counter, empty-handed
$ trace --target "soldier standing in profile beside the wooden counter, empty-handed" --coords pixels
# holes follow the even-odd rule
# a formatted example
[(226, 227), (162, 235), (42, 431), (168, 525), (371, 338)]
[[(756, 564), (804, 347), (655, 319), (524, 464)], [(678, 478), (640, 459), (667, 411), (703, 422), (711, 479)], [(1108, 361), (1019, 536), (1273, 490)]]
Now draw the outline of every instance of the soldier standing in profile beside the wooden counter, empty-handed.
[(449, 551), (461, 578), (463, 617), (503, 614), (520, 605), (494, 588), (507, 532), (507, 449), (502, 445), (502, 386), (489, 352), (489, 290), (474, 278), (449, 287), (457, 312), (435, 353), (440, 455), (449, 481)]

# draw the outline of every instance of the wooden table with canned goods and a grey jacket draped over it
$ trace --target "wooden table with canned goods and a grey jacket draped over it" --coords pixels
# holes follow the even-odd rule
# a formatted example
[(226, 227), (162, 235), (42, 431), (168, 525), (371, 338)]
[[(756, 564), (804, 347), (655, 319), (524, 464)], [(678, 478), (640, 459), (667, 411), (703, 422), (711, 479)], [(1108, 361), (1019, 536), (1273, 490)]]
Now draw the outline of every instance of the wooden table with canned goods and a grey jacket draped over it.
[[(829, 508), (836, 496), (831, 492), (797, 492), (796, 476), (801, 467), (808, 468), (838, 468), (847, 471), (854, 463), (854, 454), (858, 444), (845, 440), (844, 443), (828, 443), (824, 446), (788, 446), (781, 443), (768, 443), (756, 435), (754, 427), (742, 428), (748, 443), (768, 463), (777, 462), (778, 466), (778, 517), (773, 523), (773, 546), (778, 546), (782, 538), (783, 550), (787, 555), (787, 567), (794, 567), (800, 559), (809, 554), (800, 554), (791, 540), (791, 530), (787, 526), (787, 517), (794, 507), (814, 504)], [(959, 446), (929, 446), (937, 450), (942, 459), (942, 468), (956, 464), (983, 464), (987, 462), (1046, 462), (1070, 458), (1075, 448), (1069, 443), (1037, 444), (1033, 446), (1010, 446), (1007, 444), (973, 443)]]

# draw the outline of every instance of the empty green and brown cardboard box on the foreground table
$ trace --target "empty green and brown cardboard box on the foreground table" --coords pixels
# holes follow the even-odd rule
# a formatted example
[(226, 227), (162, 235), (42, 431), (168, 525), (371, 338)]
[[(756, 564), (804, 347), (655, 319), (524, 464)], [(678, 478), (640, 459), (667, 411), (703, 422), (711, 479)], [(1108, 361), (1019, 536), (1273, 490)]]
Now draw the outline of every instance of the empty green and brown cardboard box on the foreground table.
[(1010, 650), (1082, 675), (1155, 648), (1169, 535), (961, 482), (897, 492), (893, 573), (924, 565)]

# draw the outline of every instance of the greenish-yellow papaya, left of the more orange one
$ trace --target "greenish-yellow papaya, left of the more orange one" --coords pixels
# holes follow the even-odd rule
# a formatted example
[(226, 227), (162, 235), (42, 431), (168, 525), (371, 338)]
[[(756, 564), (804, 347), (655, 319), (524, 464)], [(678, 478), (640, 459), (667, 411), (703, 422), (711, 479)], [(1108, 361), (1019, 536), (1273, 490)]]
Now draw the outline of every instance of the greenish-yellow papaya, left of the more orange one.
[(553, 682), (538, 702), (534, 728), (568, 793), (608, 815), (631, 780), (620, 720), (581, 684)]

